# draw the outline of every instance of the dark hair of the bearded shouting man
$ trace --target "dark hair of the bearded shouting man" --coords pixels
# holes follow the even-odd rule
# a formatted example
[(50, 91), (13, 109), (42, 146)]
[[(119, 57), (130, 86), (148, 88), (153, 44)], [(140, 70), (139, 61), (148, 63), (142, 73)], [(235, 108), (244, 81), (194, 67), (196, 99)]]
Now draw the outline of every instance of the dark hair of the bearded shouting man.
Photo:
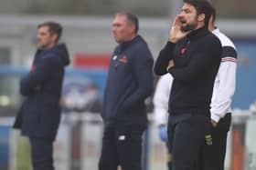
[(210, 15), (212, 15), (212, 5), (208, 0), (183, 0), (188, 5), (193, 5), (197, 10), (197, 15), (205, 14), (205, 25), (208, 25)]

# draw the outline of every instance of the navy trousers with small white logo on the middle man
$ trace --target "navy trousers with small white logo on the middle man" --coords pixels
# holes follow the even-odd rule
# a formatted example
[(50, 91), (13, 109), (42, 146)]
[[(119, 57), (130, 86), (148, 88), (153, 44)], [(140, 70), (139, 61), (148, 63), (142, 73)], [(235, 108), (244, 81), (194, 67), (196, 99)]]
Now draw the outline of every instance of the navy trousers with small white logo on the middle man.
[(142, 170), (142, 135), (144, 128), (105, 127), (99, 170)]

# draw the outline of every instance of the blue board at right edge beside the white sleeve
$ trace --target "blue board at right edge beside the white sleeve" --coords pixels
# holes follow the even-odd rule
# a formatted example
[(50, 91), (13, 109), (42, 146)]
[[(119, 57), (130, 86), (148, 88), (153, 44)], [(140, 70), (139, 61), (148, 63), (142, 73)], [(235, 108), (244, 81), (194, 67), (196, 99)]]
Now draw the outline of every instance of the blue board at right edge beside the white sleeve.
[(236, 92), (232, 107), (249, 109), (256, 101), (256, 39), (235, 39), (238, 50)]

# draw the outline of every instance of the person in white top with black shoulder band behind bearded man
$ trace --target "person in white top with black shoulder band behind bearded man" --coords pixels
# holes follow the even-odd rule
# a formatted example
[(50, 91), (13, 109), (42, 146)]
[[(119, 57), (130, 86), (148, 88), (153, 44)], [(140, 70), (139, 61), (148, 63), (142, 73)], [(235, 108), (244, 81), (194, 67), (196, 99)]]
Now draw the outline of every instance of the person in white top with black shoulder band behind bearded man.
[(218, 36), (222, 45), (221, 63), (215, 79), (211, 99), (212, 145), (205, 145), (202, 160), (204, 170), (224, 170), (227, 137), (231, 124), (231, 102), (236, 87), (237, 52), (226, 35), (215, 27), (216, 10), (213, 7), (208, 29)]

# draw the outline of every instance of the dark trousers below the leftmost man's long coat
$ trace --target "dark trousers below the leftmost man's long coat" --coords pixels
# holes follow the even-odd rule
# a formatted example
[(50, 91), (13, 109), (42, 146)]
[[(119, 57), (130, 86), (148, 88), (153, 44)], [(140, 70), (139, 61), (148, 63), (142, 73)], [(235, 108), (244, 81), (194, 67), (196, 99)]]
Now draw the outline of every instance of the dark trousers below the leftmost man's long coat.
[(29, 137), (33, 170), (54, 170), (53, 140), (41, 137)]

